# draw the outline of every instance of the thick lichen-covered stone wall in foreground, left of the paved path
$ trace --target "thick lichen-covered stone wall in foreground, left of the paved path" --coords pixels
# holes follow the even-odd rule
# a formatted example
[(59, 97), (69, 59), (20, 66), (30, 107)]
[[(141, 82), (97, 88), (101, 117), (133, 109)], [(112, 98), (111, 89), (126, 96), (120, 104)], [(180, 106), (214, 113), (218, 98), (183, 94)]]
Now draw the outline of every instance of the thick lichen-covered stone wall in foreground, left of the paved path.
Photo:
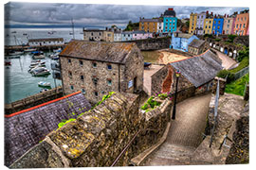
[(155, 144), (170, 117), (168, 99), (155, 110), (138, 111), (139, 97), (114, 93), (77, 120), (52, 131), (10, 168), (110, 166), (122, 150), (117, 165), (128, 165), (131, 158)]

